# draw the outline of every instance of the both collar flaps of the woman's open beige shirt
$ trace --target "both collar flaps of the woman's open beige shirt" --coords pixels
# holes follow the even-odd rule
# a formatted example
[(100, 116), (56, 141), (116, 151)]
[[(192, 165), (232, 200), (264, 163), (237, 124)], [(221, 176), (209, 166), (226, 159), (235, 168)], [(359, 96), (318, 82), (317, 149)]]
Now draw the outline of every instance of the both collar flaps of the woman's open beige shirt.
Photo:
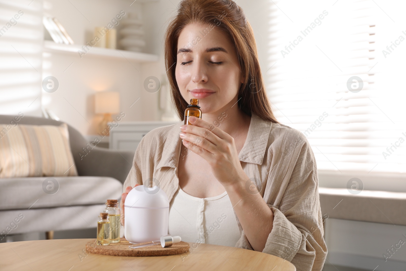
[[(161, 160), (157, 168), (160, 167), (177, 167), (181, 138), (179, 137), (179, 127), (183, 125), (183, 121), (174, 124), (168, 132), (166, 141), (162, 150)], [(266, 152), (272, 122), (261, 119), (255, 113), (252, 113), (248, 134), (242, 150), (238, 154), (238, 159), (242, 162), (262, 165), (263, 156)], [(165, 142), (166, 143), (166, 142)]]

